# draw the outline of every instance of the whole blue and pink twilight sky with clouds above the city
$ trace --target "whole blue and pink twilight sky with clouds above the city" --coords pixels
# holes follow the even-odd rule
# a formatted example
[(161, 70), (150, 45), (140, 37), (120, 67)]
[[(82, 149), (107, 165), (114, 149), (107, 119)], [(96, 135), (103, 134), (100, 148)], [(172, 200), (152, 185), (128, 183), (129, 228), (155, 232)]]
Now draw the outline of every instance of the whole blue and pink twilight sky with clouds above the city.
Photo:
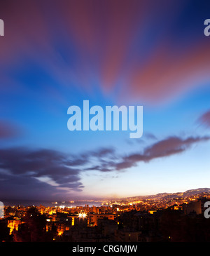
[[(0, 197), (209, 187), (208, 1), (0, 3)], [(72, 105), (143, 106), (143, 135), (67, 128)]]

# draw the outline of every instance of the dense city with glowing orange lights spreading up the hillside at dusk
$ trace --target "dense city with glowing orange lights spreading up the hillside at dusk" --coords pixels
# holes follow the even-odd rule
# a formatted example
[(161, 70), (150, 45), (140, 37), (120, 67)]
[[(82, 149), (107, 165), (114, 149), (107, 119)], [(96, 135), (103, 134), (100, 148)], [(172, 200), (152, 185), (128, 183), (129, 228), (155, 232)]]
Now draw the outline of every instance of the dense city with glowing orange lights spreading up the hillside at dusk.
[(4, 206), (4, 242), (210, 241), (209, 189), (107, 201), (102, 206)]

